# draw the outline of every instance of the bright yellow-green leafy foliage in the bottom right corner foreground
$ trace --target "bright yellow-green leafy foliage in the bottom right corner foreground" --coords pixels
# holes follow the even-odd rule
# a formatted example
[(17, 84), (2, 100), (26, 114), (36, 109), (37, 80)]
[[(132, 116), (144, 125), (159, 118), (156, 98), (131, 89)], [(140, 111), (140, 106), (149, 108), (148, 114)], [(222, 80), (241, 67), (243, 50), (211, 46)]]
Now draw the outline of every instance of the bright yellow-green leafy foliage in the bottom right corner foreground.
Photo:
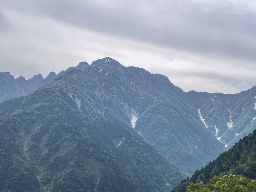
[(210, 179), (207, 184), (201, 183), (190, 183), (188, 186), (188, 192), (253, 192), (256, 191), (256, 181), (245, 178), (241, 175), (230, 174), (222, 177), (216, 175)]

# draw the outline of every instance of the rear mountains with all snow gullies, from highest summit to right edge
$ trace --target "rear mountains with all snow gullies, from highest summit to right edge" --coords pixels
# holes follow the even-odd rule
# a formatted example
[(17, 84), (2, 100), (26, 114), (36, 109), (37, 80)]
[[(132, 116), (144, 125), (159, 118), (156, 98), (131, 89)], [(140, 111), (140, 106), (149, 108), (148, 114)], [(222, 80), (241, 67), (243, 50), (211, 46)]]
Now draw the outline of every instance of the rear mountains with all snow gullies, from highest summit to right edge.
[(52, 72), (38, 87), (74, 68), (90, 81), (102, 116), (133, 129), (187, 174), (255, 129), (256, 87), (238, 94), (183, 92), (166, 76), (124, 67), (108, 57)]

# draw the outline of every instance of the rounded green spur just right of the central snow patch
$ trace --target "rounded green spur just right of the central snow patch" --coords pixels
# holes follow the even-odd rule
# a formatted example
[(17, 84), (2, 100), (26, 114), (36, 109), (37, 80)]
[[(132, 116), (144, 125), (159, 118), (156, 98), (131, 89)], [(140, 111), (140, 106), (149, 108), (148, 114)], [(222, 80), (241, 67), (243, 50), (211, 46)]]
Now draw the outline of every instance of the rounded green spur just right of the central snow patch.
[(193, 116), (184, 115), (166, 100), (153, 102), (141, 114), (135, 128), (187, 174), (223, 151), (223, 145), (209, 137), (210, 132)]

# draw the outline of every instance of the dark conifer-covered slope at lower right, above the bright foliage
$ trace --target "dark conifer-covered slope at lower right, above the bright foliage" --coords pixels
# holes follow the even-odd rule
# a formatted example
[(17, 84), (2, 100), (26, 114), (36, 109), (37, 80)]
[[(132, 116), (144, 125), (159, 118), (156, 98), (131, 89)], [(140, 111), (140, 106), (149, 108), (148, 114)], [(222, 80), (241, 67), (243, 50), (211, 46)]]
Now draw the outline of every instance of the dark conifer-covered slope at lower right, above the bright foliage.
[(223, 176), (232, 173), (256, 179), (256, 130), (240, 139), (232, 148), (220, 154), (201, 170), (197, 170), (190, 179), (182, 180), (172, 192), (185, 192), (190, 182), (208, 183), (214, 175)]

